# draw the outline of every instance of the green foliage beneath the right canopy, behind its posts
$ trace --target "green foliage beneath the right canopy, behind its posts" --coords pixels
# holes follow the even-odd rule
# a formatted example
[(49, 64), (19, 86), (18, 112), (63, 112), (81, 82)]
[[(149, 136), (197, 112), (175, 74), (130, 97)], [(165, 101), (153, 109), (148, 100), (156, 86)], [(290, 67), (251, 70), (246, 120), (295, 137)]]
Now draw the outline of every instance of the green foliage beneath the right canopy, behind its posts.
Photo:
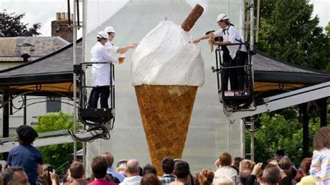
[[(309, 153), (313, 152), (313, 136), (320, 127), (320, 119), (309, 122)], [(297, 118), (285, 119), (283, 115), (262, 114), (260, 127), (255, 133), (256, 161), (265, 162), (275, 155), (276, 150), (284, 150), (292, 161), (299, 166), (302, 161), (303, 147), (302, 123)], [(250, 143), (250, 134), (246, 132), (246, 144)], [(246, 148), (249, 152), (249, 147)]]

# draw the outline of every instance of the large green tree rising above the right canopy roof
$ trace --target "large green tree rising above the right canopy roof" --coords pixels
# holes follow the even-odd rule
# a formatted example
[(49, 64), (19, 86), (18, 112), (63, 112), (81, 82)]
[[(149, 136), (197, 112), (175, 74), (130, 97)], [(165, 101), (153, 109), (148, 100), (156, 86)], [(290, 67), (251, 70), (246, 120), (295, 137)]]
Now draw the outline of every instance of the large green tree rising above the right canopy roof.
[(311, 18), (313, 5), (306, 0), (269, 2), (274, 7), (263, 4), (267, 14), (260, 19), (258, 49), (285, 62), (325, 70), (330, 63), (330, 38), (317, 26), (318, 17)]

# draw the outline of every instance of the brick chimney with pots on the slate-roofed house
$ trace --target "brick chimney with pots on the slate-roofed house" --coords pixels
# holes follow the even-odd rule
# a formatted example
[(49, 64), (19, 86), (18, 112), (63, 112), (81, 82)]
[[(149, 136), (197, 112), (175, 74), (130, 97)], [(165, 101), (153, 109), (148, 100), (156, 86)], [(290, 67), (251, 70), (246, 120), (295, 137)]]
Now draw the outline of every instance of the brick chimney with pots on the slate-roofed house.
[[(72, 19), (70, 19), (72, 24)], [(59, 36), (68, 42), (73, 42), (73, 31), (68, 26), (68, 13), (56, 13), (56, 20), (52, 21), (52, 37)]]

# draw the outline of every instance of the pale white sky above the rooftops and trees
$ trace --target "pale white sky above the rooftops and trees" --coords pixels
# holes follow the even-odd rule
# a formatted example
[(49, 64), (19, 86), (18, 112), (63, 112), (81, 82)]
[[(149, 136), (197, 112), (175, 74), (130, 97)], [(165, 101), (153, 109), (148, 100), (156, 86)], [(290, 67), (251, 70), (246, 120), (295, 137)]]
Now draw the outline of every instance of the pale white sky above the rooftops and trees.
[[(203, 0), (196, 1), (203, 4)], [(318, 15), (320, 17), (319, 25), (322, 27), (327, 26), (330, 21), (330, 0), (311, 0), (311, 3), (314, 5), (313, 16)], [(8, 13), (25, 13), (22, 22), (29, 23), (28, 27), (40, 22), (42, 36), (50, 36), (52, 33), (50, 24), (55, 19), (56, 12), (66, 12), (68, 7), (67, 0), (1, 0), (0, 10), (4, 9)], [(73, 10), (71, 11), (73, 12)]]

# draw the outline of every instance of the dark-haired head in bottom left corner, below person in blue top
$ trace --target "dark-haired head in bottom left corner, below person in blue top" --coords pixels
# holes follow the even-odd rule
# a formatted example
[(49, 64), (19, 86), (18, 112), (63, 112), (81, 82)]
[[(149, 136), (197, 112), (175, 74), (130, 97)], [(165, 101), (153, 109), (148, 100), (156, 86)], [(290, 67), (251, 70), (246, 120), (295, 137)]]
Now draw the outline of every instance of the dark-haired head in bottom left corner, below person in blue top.
[(3, 185), (29, 185), (29, 178), (22, 167), (6, 168), (2, 172)]

